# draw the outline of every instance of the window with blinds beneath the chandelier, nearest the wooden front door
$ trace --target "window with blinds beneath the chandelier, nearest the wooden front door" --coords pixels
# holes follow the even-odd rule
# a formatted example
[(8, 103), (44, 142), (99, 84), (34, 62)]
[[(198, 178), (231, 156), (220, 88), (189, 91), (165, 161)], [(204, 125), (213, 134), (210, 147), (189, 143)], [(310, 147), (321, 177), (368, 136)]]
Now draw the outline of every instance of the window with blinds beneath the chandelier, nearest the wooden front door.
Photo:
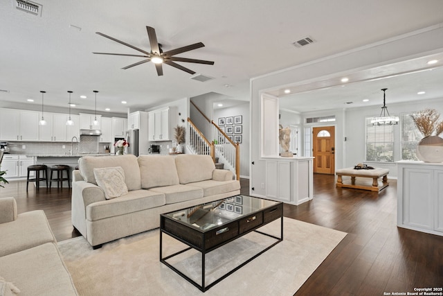
[(366, 161), (394, 162), (395, 125), (372, 125), (371, 118), (365, 119)]

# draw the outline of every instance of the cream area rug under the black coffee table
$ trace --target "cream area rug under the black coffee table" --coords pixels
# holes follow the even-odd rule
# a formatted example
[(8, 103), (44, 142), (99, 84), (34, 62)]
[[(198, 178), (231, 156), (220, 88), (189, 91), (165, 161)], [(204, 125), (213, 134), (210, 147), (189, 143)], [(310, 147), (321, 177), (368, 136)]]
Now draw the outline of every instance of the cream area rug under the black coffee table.
[[(280, 219), (260, 228), (280, 235)], [(345, 237), (344, 232), (284, 218), (283, 241), (202, 293), (159, 261), (159, 229), (92, 250), (82, 237), (59, 243), (80, 295), (293, 295)], [(273, 240), (250, 233), (206, 254), (206, 284)], [(163, 256), (185, 245), (163, 234)], [(168, 261), (200, 282), (201, 255), (190, 250)]]

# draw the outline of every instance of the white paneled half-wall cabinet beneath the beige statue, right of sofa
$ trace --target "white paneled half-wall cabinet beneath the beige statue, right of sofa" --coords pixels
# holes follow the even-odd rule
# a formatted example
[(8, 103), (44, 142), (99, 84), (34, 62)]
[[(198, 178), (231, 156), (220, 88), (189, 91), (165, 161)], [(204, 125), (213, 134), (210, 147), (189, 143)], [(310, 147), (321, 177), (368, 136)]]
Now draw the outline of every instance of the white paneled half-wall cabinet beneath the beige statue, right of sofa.
[(266, 158), (266, 198), (302, 204), (313, 197), (313, 157)]

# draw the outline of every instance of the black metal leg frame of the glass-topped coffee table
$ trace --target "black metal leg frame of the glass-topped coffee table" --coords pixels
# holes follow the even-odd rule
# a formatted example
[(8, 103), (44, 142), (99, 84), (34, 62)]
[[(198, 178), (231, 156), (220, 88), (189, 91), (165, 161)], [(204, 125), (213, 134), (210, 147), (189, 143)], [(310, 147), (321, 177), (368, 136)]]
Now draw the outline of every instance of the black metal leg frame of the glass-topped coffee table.
[[(275, 219), (275, 220), (278, 220), (278, 218)], [(211, 247), (208, 250), (204, 250), (204, 247), (203, 247), (203, 250), (199, 250), (199, 248), (194, 247), (192, 244), (188, 243), (187, 241), (183, 240), (182, 238), (179, 238), (178, 236), (175, 236), (174, 234), (170, 234), (169, 232), (166, 232), (165, 230), (161, 229), (161, 227), (160, 227), (160, 261), (161, 261), (161, 263), (165, 264), (166, 266), (168, 266), (169, 268), (174, 270), (174, 272), (177, 272), (181, 277), (183, 277), (183, 279), (186, 279), (192, 285), (194, 285), (195, 287), (199, 288), (199, 290), (201, 290), (202, 292), (206, 292), (211, 287), (215, 286), (215, 284), (218, 284), (220, 281), (222, 281), (223, 279), (226, 279), (226, 277), (232, 275), (235, 271), (239, 270), (244, 265), (246, 265), (249, 262), (253, 261), (253, 259), (257, 258), (257, 256), (260, 256), (261, 254), (263, 254), (267, 250), (271, 249), (271, 247), (273, 247), (274, 245), (277, 245), (278, 243), (283, 241), (283, 216), (280, 217), (280, 238), (277, 237), (277, 236), (273, 236), (271, 234), (266, 234), (264, 232), (260, 232), (260, 231), (257, 230), (257, 229), (260, 229), (260, 227), (263, 227), (264, 225), (269, 224), (269, 223), (271, 223), (271, 222), (273, 222), (275, 220), (269, 221), (268, 223), (264, 223), (264, 224), (260, 225), (259, 227), (256, 227), (255, 229), (250, 229), (247, 232), (244, 232), (243, 234), (240, 234), (239, 236), (235, 236), (234, 238), (230, 238), (228, 241), (225, 241), (224, 243), (221, 243), (220, 245), (216, 245), (215, 247)], [(208, 286), (205, 286), (205, 256), (206, 256), (206, 254), (208, 254), (209, 252), (212, 252), (213, 250), (218, 249), (222, 245), (226, 245), (227, 243), (230, 243), (231, 241), (235, 241), (237, 238), (240, 238), (240, 237), (242, 237), (242, 236), (244, 236), (244, 235), (246, 235), (246, 234), (248, 234), (250, 232), (257, 232), (259, 234), (263, 234), (265, 236), (269, 236), (271, 238), (275, 238), (275, 239), (277, 239), (277, 241), (275, 243), (273, 243), (272, 245), (269, 245), (269, 247), (266, 247), (266, 249), (264, 249), (264, 250), (260, 251), (259, 253), (255, 254), (250, 259), (244, 261), (242, 264), (238, 265), (233, 270), (230, 270), (230, 272), (228, 272), (225, 275), (219, 277), (218, 279), (216, 279), (215, 281), (210, 283)], [(166, 256), (165, 258), (163, 258), (163, 254), (162, 254), (163, 253), (163, 233), (168, 234), (172, 238), (177, 239), (177, 241), (181, 241), (181, 243), (189, 245), (189, 247), (187, 247), (184, 250), (181, 250), (179, 252), (176, 252), (174, 254), (171, 254), (171, 255)], [(174, 256), (177, 256), (177, 255), (179, 255), (179, 254), (181, 254), (183, 252), (191, 250), (191, 249), (195, 249), (195, 250), (201, 252), (201, 285), (199, 285), (196, 281), (194, 281), (193, 279), (191, 279), (190, 277), (185, 275), (183, 272), (181, 272), (177, 268), (174, 268), (174, 266), (172, 266), (170, 263), (166, 262), (166, 260), (168, 260), (168, 259), (170, 259), (170, 258), (172, 258)]]

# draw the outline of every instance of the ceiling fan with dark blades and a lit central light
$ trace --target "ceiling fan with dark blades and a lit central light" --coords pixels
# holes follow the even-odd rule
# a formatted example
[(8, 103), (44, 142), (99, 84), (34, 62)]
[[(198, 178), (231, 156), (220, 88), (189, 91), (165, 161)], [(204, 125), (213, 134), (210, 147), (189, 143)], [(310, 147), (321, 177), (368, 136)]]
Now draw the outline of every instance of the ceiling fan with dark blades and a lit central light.
[(135, 49), (136, 51), (140, 51), (141, 53), (144, 53), (144, 54), (143, 55), (130, 55), (130, 54), (125, 54), (125, 53), (95, 53), (95, 54), (99, 54), (99, 55), (125, 55), (125, 56), (130, 56), (130, 57), (145, 58), (145, 60), (141, 60), (140, 62), (136, 62), (134, 64), (129, 64), (129, 66), (123, 67), (122, 69), (129, 69), (129, 68), (137, 66), (139, 64), (144, 64), (145, 62), (153, 62), (155, 64), (155, 68), (157, 70), (157, 75), (159, 75), (159, 76), (163, 76), (163, 67), (162, 67), (163, 63), (168, 64), (168, 65), (175, 67), (177, 69), (180, 69), (182, 71), (188, 72), (190, 74), (195, 74), (195, 71), (192, 71), (191, 69), (183, 67), (180, 64), (177, 64), (176, 62), (193, 62), (193, 63), (197, 63), (197, 64), (214, 64), (214, 62), (210, 62), (208, 60), (195, 60), (195, 59), (190, 59), (190, 58), (180, 58), (180, 57), (174, 56), (174, 55), (178, 55), (179, 53), (185, 53), (186, 51), (192, 51), (194, 49), (199, 49), (201, 47), (204, 47), (205, 45), (203, 43), (198, 42), (198, 43), (191, 44), (188, 46), (179, 47), (178, 49), (172, 49), (170, 51), (163, 52), (163, 50), (161, 49), (161, 44), (159, 44), (159, 42), (157, 42), (157, 36), (155, 33), (155, 29), (150, 26), (146, 26), (146, 30), (147, 30), (147, 37), (150, 40), (150, 46), (151, 46), (150, 52), (144, 51), (143, 49), (139, 49), (136, 46), (133, 46), (131, 44), (127, 44), (126, 42), (117, 40), (114, 37), (105, 35), (100, 32), (96, 32), (96, 34), (98, 34), (100, 36), (106, 37), (110, 40), (114, 40), (115, 42), (118, 42), (120, 44), (128, 46), (128, 47)]

